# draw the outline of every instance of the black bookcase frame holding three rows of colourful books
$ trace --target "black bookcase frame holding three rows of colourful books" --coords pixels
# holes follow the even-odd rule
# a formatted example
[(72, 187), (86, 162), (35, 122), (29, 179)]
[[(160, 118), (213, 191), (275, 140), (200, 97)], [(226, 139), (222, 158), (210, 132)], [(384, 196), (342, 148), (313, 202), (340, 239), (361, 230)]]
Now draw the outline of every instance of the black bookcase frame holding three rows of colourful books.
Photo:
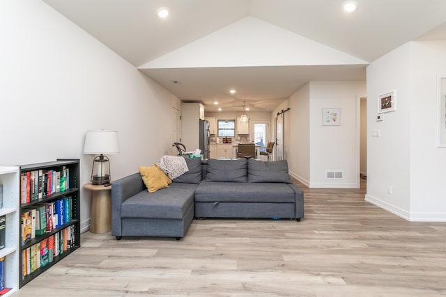
[[(64, 223), (63, 225), (59, 227), (54, 227), (54, 229), (47, 231), (43, 235), (36, 235), (35, 238), (31, 239), (30, 241), (26, 241), (26, 243), (22, 244), (22, 228), (19, 226), (20, 230), (20, 238), (19, 240), (19, 246), (20, 246), (20, 287), (23, 287), (28, 282), (31, 282), (31, 280), (35, 279), (43, 273), (44, 271), (47, 271), (47, 269), (51, 268), (54, 264), (59, 262), (61, 259), (67, 257), (72, 252), (77, 250), (81, 246), (81, 236), (80, 236), (80, 191), (79, 191), (79, 159), (57, 159), (56, 161), (51, 162), (45, 162), (45, 163), (35, 163), (35, 164), (29, 164), (29, 165), (23, 165), (20, 166), (20, 175), (26, 174), (26, 172), (31, 171), (38, 171), (38, 170), (55, 170), (55, 171), (61, 171), (62, 168), (68, 168), (69, 175), (68, 175), (68, 185), (69, 188), (67, 188), (65, 191), (62, 192), (56, 192), (52, 193), (52, 195), (47, 195), (44, 198), (38, 199), (38, 200), (32, 200), (27, 203), (22, 203), (22, 195), (23, 191), (20, 191), (20, 214), (23, 212), (28, 211), (29, 209), (33, 209), (39, 204), (44, 203), (51, 203), (56, 200), (60, 200), (62, 198), (71, 197), (71, 220)], [(20, 189), (22, 189), (22, 184), (20, 185)], [(72, 239), (74, 239), (75, 243), (74, 245), (70, 246), (66, 251), (63, 251), (63, 253), (57, 255), (54, 257), (52, 262), (48, 262), (45, 266), (35, 267), (35, 270), (30, 273), (24, 275), (24, 250), (31, 248), (31, 246), (36, 245), (36, 243), (40, 243), (42, 241), (48, 240), (50, 237), (54, 234), (61, 234), (64, 229), (69, 228), (70, 231), (72, 231), (71, 236)]]

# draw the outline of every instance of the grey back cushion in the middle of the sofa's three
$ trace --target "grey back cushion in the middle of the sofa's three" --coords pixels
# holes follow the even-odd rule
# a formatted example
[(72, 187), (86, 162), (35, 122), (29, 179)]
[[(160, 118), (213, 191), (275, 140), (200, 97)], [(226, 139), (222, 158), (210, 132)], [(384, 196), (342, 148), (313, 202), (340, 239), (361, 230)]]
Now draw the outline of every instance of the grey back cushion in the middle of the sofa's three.
[(206, 180), (211, 182), (246, 182), (246, 159), (208, 159)]

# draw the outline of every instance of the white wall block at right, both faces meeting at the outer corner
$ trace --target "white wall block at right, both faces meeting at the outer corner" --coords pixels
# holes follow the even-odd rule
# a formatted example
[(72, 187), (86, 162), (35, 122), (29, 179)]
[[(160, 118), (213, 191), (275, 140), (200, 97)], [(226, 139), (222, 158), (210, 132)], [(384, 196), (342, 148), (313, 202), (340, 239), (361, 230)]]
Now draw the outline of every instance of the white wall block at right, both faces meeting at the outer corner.
[[(408, 42), (367, 69), (369, 131), (366, 200), (412, 221), (446, 221), (446, 148), (436, 147), (437, 77), (446, 41)], [(377, 96), (397, 90), (397, 111), (374, 122)], [(392, 186), (392, 194), (387, 187)]]

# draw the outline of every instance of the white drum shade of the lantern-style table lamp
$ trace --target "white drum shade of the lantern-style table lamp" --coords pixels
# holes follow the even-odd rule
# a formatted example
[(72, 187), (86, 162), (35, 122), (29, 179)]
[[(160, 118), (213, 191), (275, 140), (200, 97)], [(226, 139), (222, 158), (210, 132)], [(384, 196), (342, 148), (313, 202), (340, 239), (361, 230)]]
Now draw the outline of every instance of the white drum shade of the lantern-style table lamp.
[(86, 131), (84, 154), (117, 154), (118, 152), (117, 131)]

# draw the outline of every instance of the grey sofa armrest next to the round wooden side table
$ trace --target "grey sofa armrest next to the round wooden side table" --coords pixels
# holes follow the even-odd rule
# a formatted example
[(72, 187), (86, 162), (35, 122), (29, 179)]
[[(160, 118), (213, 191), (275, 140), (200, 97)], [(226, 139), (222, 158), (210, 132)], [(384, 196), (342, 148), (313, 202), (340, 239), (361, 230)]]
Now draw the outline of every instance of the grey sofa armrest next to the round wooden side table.
[(112, 235), (122, 236), (121, 204), (146, 189), (139, 172), (112, 182)]

